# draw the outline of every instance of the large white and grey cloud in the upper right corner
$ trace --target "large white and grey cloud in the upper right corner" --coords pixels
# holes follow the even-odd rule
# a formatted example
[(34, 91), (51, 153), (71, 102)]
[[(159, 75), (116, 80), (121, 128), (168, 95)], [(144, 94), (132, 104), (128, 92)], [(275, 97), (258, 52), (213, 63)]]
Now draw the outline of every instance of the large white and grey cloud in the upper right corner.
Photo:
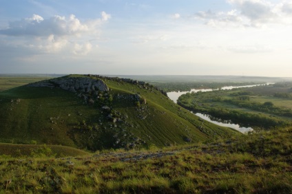
[(292, 24), (292, 1), (271, 3), (267, 0), (227, 0), (233, 10), (227, 12), (197, 12), (201, 19), (213, 27), (255, 27), (262, 28), (270, 24)]

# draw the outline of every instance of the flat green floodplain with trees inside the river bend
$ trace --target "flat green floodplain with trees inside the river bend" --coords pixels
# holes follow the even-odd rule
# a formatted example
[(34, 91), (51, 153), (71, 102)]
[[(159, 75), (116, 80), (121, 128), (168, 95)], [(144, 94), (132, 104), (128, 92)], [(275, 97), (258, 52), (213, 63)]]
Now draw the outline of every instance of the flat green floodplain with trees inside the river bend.
[[(281, 91), (281, 93), (279, 93)], [(188, 93), (180, 96), (178, 104), (203, 114), (231, 120), (244, 127), (291, 125), (291, 85), (266, 85), (232, 90)], [(281, 94), (281, 95), (280, 95)]]

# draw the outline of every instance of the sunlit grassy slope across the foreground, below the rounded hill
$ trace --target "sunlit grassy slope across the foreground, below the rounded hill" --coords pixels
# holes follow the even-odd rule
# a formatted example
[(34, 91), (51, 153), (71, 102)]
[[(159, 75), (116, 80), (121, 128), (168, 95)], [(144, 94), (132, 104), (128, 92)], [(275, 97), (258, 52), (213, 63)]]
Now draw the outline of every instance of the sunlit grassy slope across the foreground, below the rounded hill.
[(292, 128), (209, 144), (0, 159), (0, 193), (291, 193)]

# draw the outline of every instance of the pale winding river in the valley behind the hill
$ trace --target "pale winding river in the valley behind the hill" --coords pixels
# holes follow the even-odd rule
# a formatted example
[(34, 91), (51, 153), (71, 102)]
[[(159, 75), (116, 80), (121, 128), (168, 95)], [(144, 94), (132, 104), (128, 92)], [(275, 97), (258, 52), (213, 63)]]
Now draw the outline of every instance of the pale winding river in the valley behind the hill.
[[(242, 87), (255, 87), (255, 86), (259, 86), (259, 85), (270, 85), (273, 83), (267, 83), (267, 84), (258, 84), (258, 85), (244, 85), (244, 86), (226, 86), (226, 87), (222, 87), (221, 89), (234, 89), (234, 88), (242, 88)], [(191, 89), (191, 91), (171, 91), (167, 93), (167, 96), (174, 101), (174, 103), (177, 103), (178, 98), (183, 95), (183, 94), (187, 94), (188, 92), (198, 92), (198, 91), (213, 91), (213, 90), (218, 90), (218, 89)], [(220, 125), (222, 127), (231, 127), (233, 129), (236, 129), (242, 133), (247, 133), (248, 131), (252, 131), (253, 129), (251, 127), (240, 127), (240, 125), (238, 124), (234, 124), (232, 123), (230, 120), (225, 120), (224, 122), (218, 122), (216, 120), (211, 120), (211, 117), (207, 114), (200, 114), (200, 113), (196, 113), (196, 116), (207, 120), (209, 122), (212, 122), (216, 125)]]

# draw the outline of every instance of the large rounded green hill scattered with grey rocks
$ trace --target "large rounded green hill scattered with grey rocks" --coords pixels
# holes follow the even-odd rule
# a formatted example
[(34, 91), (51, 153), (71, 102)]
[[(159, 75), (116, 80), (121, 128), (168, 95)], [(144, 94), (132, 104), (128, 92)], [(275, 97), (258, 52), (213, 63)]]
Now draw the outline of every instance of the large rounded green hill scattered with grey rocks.
[(238, 134), (143, 82), (70, 75), (0, 92), (0, 142), (79, 149), (163, 147)]

